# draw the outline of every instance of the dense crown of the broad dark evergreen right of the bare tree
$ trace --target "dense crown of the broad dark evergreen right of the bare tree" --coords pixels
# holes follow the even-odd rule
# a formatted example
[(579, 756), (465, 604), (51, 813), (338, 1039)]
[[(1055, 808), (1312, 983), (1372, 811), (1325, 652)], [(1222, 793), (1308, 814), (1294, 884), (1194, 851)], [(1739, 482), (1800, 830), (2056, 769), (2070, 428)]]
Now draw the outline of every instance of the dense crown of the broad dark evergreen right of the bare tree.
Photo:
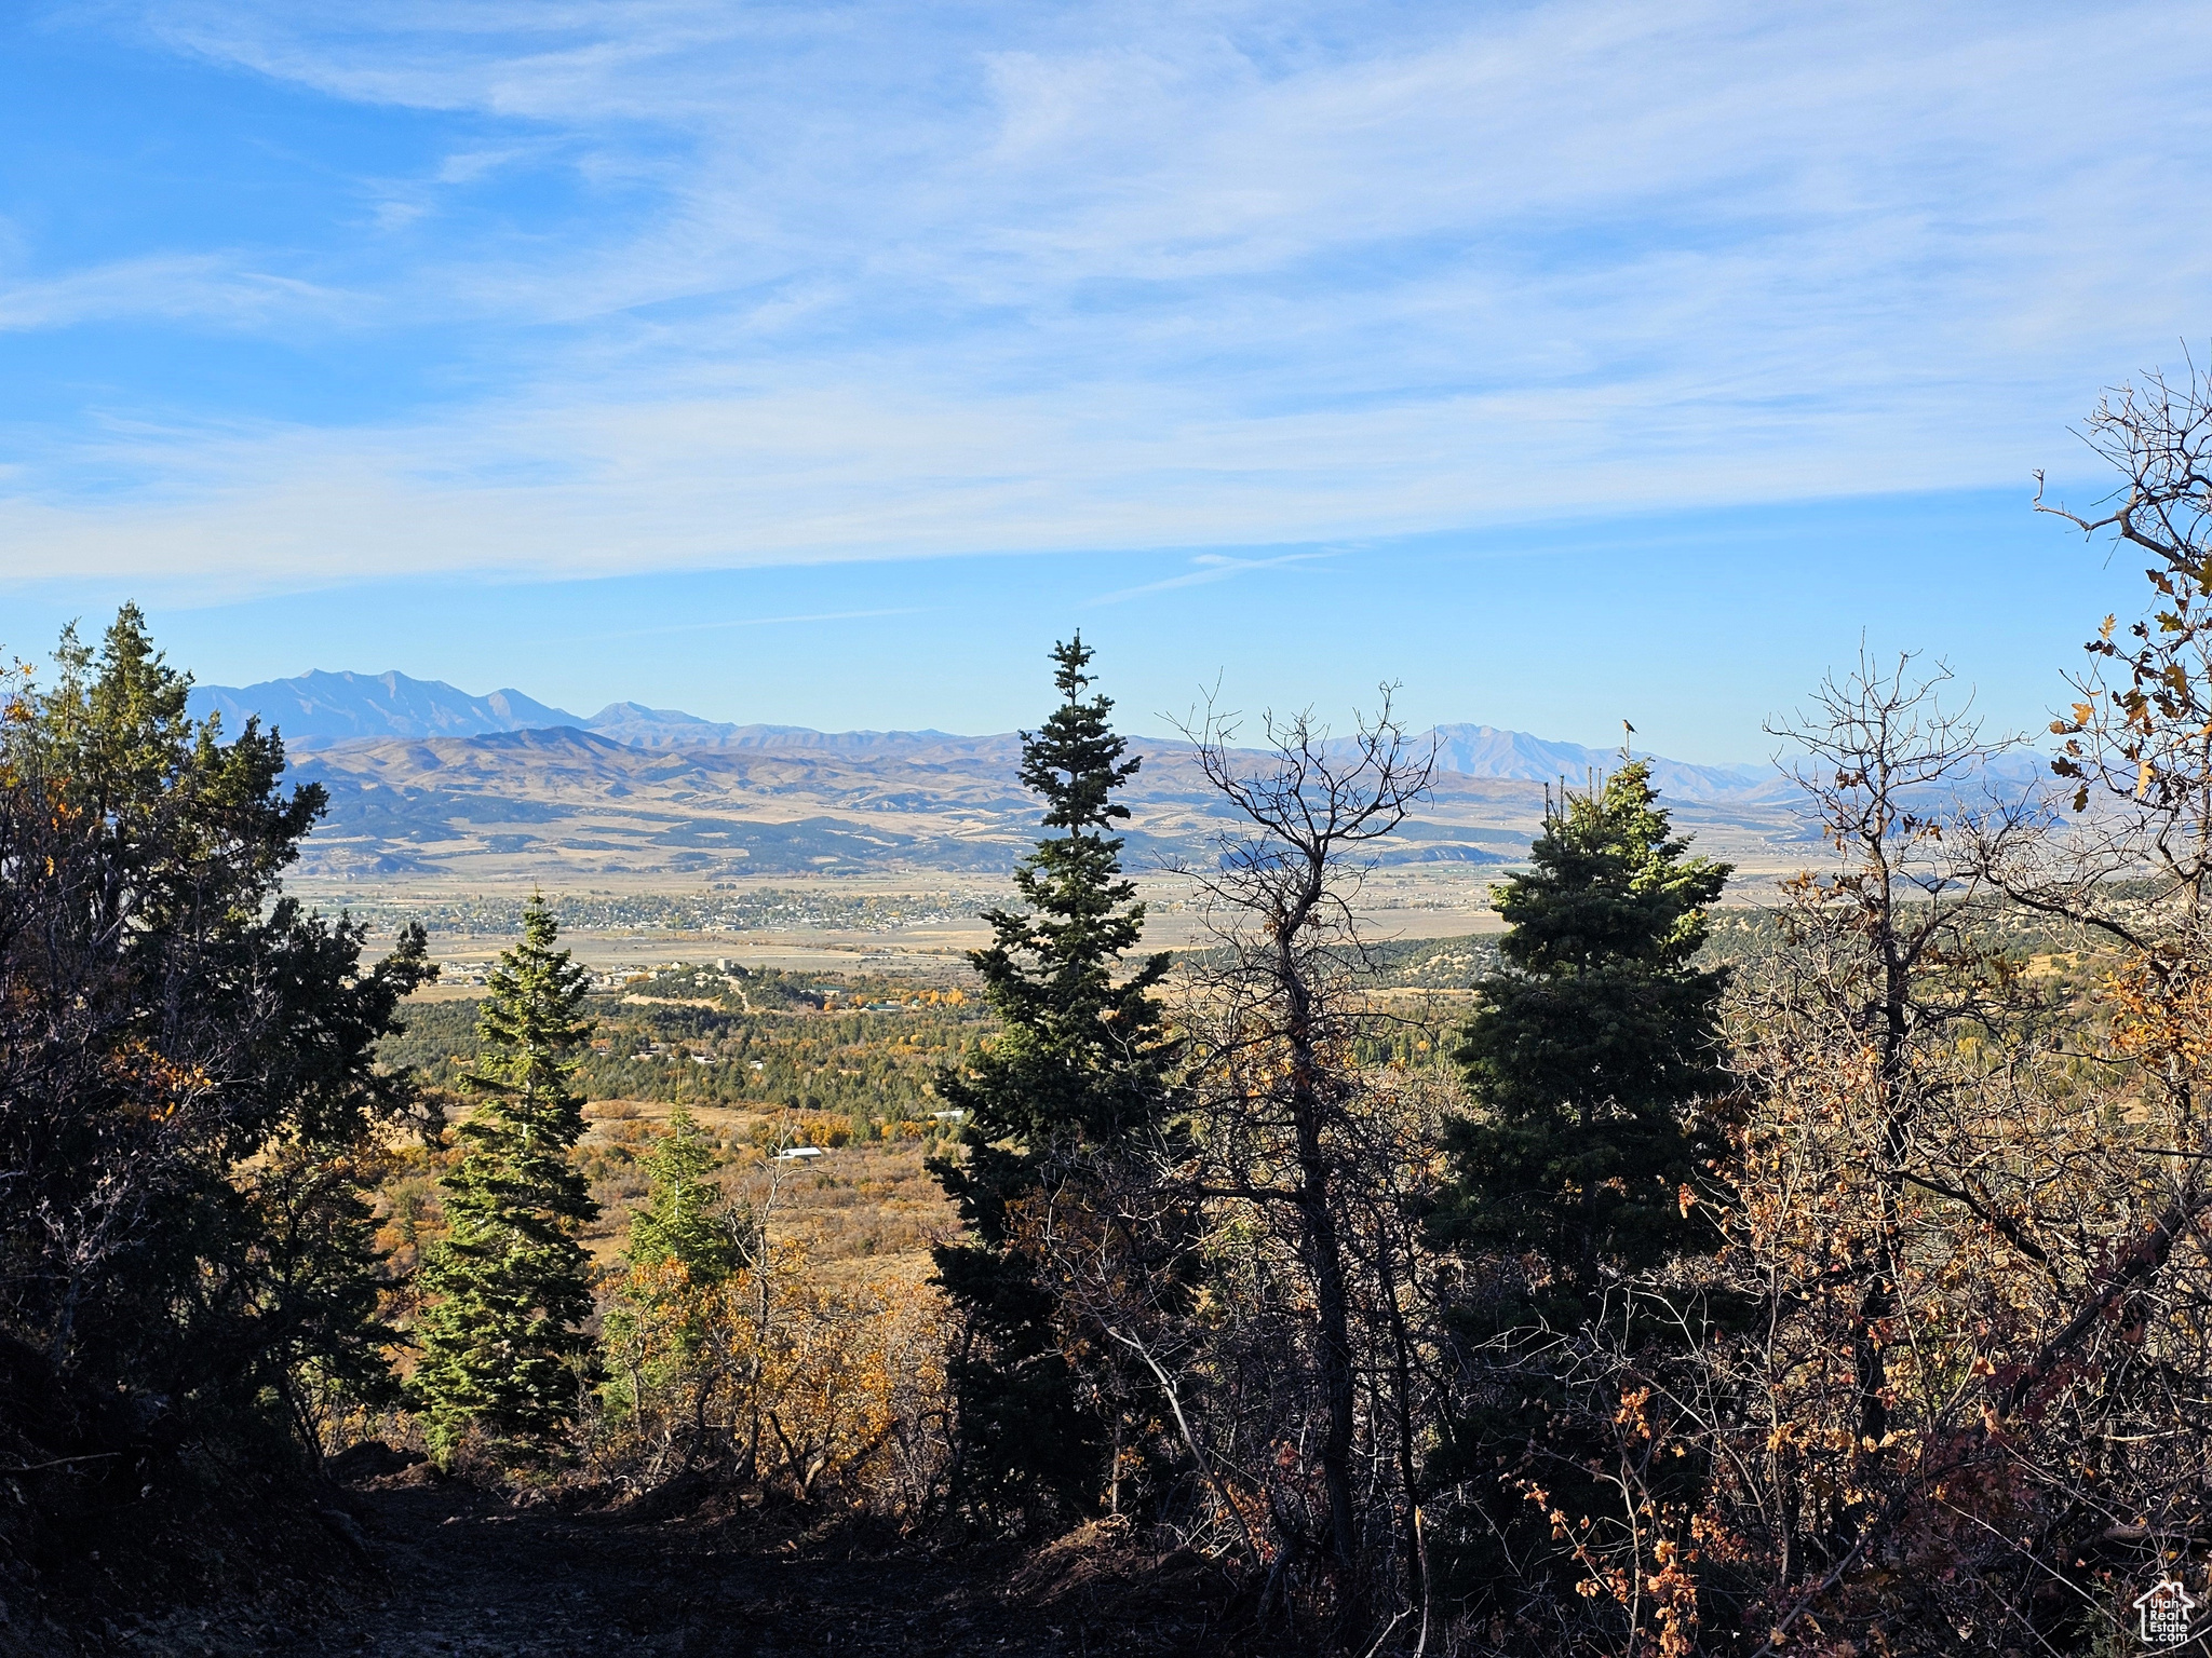
[(1725, 970), (1692, 962), (1730, 867), (1688, 849), (1630, 760), (1564, 794), (1493, 889), (1509, 968), (1455, 1054), (1480, 1114), (1451, 1127), (1451, 1229), (1548, 1262), (1553, 1313), (1697, 1236), (1681, 1189), (1712, 1147), (1686, 1108), (1725, 1085)]

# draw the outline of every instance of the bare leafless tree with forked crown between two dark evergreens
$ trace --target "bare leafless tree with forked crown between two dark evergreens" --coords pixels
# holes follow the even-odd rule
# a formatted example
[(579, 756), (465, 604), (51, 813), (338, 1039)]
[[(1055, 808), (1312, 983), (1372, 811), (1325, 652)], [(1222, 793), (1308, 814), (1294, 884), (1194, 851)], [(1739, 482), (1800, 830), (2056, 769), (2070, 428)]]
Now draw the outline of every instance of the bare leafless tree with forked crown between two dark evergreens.
[[(1400, 1309), (1411, 1269), (1405, 1238), (1374, 1225), (1391, 1207), (1376, 1194), (1389, 1189), (1402, 1147), (1376, 1121), (1356, 1063), (1376, 1012), (1358, 990), (1369, 962), (1354, 898), (1367, 849), (1405, 822), (1427, 789), (1433, 752), (1409, 743), (1387, 688), (1374, 718), (1343, 741), (1332, 743), (1310, 714), (1267, 718), (1256, 767), (1237, 749), (1237, 718), (1214, 707), (1186, 727), (1208, 783), (1248, 825), (1223, 838), (1217, 864), (1183, 871), (1214, 940), (1190, 977), (1199, 1121), (1190, 1178), (1206, 1198), (1248, 1207), (1281, 1229), (1305, 1278), (1312, 1315), (1301, 1349), (1321, 1415), (1318, 1490), (1310, 1521), (1281, 1490), (1270, 1508), (1294, 1550), (1323, 1554), (1338, 1605), (1356, 1620), (1367, 1547), (1360, 1307)], [(1394, 1318), (1402, 1333), (1402, 1313), (1383, 1322)], [(1405, 1450), (1394, 1481), (1402, 1486), (1398, 1532), (1418, 1589), (1405, 1342), (1385, 1368), (1383, 1386), (1394, 1395), (1385, 1415), (1398, 1419), (1389, 1437)]]

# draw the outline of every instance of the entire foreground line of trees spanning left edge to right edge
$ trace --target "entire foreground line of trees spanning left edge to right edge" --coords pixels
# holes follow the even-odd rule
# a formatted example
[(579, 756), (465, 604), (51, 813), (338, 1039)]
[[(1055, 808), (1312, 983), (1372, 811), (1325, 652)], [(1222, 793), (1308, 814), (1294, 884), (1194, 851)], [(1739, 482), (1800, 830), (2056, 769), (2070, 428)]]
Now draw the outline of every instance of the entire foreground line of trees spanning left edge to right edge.
[[(964, 1114), (927, 1284), (814, 1271), (779, 1183), (830, 1176), (739, 1187), (681, 1110), (595, 1273), (615, 1035), (551, 911), (440, 1127), (372, 1063), (420, 937), (363, 970), (276, 893), (319, 802), (274, 738), (190, 727), (135, 612), (64, 643), (0, 774), (9, 1572), (226, 1446), (376, 1433), (577, 1501), (1108, 1521), (1210, 1559), (1256, 1651), (2112, 1651), (2157, 1583), (2212, 1598), (2212, 398), (2090, 436), (2126, 484), (2084, 528), (2150, 599), (2090, 641), (2053, 794), (1995, 798), (1947, 676), (1863, 659), (1778, 732), (1827, 853), (1765, 915), (1714, 913), (1730, 871), (1624, 754), (1444, 968), (1451, 1030), (1358, 928), (1427, 785), (1387, 699), (1349, 741), (1270, 721), (1259, 765), (1190, 732), (1245, 833), (1183, 871), (1212, 940), (1170, 964), (1137, 758), (1062, 646), (989, 1041), (909, 1068)], [(650, 1012), (695, 1015), (754, 1039)], [(847, 1017), (916, 1015), (805, 1026)], [(400, 1273), (363, 1194), (409, 1132), (440, 1220)]]

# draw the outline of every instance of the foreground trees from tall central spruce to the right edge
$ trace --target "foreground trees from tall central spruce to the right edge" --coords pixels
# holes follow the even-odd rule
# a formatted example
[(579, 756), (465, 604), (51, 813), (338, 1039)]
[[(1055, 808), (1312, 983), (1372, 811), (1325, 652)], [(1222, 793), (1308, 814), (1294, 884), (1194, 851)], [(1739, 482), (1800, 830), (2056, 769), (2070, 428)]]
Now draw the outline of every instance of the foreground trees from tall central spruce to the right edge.
[(1719, 964), (1728, 871), (1624, 756), (1495, 889), (1451, 1077), (1374, 1061), (1356, 889), (1425, 783), (1387, 705), (1259, 772), (1192, 734), (1250, 836), (1190, 871), (1170, 1019), (1071, 690), (958, 1094), (949, 1501), (1139, 1517), (1345, 1651), (2112, 1651), (2203, 1596), (2208, 387), (2093, 436), (2126, 486), (2081, 526), (2150, 597), (2057, 789), (1993, 796), (1947, 674), (1863, 659), (1776, 727), (1829, 856)]

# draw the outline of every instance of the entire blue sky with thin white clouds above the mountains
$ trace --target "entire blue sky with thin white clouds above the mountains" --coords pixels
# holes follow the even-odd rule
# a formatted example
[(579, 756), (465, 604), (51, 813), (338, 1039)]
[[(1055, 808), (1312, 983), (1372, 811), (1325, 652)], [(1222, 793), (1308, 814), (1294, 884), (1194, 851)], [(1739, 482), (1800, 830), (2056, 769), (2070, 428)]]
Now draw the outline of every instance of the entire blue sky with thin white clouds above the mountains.
[(2028, 511), (2203, 338), (2190, 7), (0, 11), (0, 646), (1002, 730), (1750, 758), (1858, 648), (2033, 723)]

